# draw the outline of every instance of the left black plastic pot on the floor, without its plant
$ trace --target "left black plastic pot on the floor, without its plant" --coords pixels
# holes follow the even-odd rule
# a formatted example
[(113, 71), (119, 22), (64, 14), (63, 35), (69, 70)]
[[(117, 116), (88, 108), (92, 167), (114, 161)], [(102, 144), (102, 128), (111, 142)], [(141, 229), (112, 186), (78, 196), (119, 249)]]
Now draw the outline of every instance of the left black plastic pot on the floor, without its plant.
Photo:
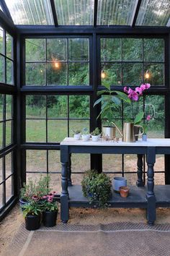
[(27, 230), (36, 230), (40, 228), (41, 215), (27, 215), (25, 218), (25, 228)]

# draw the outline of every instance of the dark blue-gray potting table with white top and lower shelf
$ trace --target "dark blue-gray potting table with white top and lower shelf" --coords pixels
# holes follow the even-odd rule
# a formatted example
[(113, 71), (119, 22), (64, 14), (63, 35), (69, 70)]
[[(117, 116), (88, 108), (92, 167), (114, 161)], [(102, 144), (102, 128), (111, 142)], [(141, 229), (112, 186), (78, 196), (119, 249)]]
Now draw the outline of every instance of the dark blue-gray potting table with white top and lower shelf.
[[(114, 208), (146, 208), (146, 218), (149, 224), (156, 221), (156, 208), (170, 207), (170, 185), (156, 185), (154, 187), (154, 170), (156, 154), (170, 154), (170, 139), (148, 139), (147, 142), (113, 142), (91, 140), (84, 142), (74, 140), (72, 137), (65, 138), (61, 142), (61, 220), (67, 223), (69, 218), (69, 206), (90, 207), (88, 200), (83, 196), (81, 185), (71, 186), (71, 153), (91, 154), (137, 154), (137, 186), (130, 187), (130, 195), (122, 198), (112, 192), (109, 200), (110, 207)], [(143, 161), (146, 155), (148, 165), (147, 186), (143, 185)]]

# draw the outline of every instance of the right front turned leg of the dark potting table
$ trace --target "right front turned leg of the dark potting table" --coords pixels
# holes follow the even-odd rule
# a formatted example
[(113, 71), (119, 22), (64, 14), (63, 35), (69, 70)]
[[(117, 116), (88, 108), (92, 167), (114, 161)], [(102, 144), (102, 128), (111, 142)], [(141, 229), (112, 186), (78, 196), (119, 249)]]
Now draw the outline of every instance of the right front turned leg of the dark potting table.
[(154, 194), (154, 170), (153, 166), (156, 161), (155, 148), (148, 148), (147, 155), (147, 164), (148, 164), (148, 191), (146, 194), (146, 198), (148, 200), (148, 208), (147, 208), (147, 220), (148, 224), (153, 225), (154, 221), (156, 221), (156, 197)]

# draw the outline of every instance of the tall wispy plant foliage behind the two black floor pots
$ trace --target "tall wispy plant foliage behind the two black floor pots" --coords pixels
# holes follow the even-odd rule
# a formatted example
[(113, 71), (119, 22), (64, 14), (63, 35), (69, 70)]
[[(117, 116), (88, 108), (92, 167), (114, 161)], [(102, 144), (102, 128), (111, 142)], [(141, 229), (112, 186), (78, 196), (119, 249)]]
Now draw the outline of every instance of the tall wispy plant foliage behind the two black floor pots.
[(50, 176), (40, 176), (40, 179), (28, 179), (20, 190), (20, 198), (25, 201), (40, 200), (50, 192)]

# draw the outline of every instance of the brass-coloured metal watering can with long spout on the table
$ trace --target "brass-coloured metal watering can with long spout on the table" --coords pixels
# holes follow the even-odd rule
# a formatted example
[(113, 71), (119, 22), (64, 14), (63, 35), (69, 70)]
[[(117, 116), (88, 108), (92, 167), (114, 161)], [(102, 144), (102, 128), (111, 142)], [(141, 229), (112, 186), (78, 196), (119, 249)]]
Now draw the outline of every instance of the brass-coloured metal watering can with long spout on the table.
[[(114, 124), (114, 123), (112, 123), (112, 124)], [(143, 135), (143, 132), (144, 132), (144, 129), (141, 125), (136, 125), (133, 122), (132, 123), (131, 122), (124, 123), (123, 132), (120, 132), (120, 129), (117, 127), (116, 124), (114, 124), (114, 125), (115, 125), (117, 131), (120, 133), (123, 142), (135, 142), (135, 137)], [(143, 132), (139, 133), (138, 135), (135, 135), (134, 127), (142, 128)]]

